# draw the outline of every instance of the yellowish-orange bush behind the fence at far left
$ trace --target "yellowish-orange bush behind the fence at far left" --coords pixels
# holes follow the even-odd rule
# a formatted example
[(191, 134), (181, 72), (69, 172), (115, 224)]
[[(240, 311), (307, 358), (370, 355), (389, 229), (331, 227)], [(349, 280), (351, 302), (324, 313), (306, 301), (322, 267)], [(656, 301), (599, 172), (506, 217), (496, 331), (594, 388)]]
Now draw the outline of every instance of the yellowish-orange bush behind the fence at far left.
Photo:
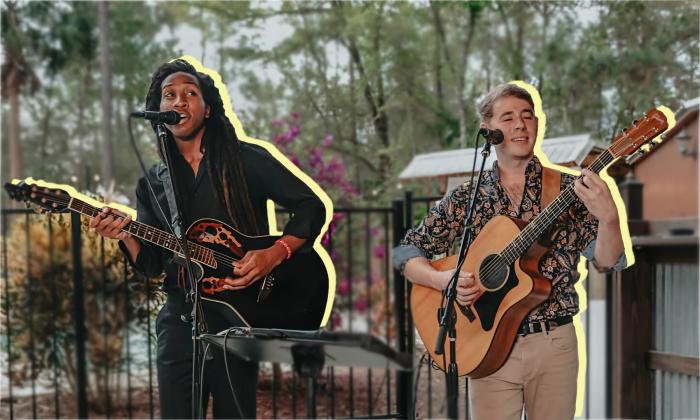
[[(147, 294), (143, 279), (129, 267), (125, 272), (116, 241), (103, 240), (88, 229), (87, 222), (84, 219), (81, 226), (86, 358), (95, 367), (90, 370), (88, 399), (96, 410), (103, 411), (107, 389), (118, 389), (123, 379), (119, 373), (126, 362), (124, 331), (132, 328), (145, 334), (145, 320), (155, 316), (162, 296), (156, 292), (156, 279), (149, 280)], [(8, 299), (10, 312), (3, 306), (0, 313), (12, 320), (11, 331), (5, 331), (12, 345), (10, 379), (14, 384), (41, 381), (55, 364), (76, 392), (70, 218), (37, 215), (12, 220), (7, 232), (7, 272), (8, 286), (3, 283), (0, 292)], [(146, 310), (149, 299), (150, 313)]]

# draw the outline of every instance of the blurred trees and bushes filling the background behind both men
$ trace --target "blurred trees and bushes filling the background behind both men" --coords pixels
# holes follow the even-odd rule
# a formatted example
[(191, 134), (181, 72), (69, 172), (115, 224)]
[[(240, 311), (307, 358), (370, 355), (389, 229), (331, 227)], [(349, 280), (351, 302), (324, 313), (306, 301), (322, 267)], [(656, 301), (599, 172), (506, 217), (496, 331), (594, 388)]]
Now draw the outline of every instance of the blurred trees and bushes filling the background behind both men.
[[(700, 6), (692, 1), (0, 0), (0, 10), (2, 180), (68, 183), (132, 207), (141, 175), (126, 117), (143, 106), (151, 73), (183, 54), (221, 74), (247, 135), (275, 144), (346, 208), (400, 198), (398, 174), (415, 154), (470, 146), (474, 104), (499, 83), (538, 88), (546, 136), (588, 132), (602, 142), (649, 108), (678, 109), (700, 89)], [(154, 163), (150, 126), (137, 122), (134, 134)], [(403, 188), (437, 192), (425, 183)], [(20, 308), (12, 315), (12, 380), (32, 375), (26, 350), (34, 347), (34, 375), (58, 366), (75, 388), (72, 359), (63, 357), (74, 352), (75, 335), (65, 299), (69, 223), (51, 220), (52, 252), (47, 217), (6, 226), (6, 292)], [(124, 275), (116, 243), (83, 228), (86, 310), (95, 314), (88, 359), (107, 367), (94, 370), (90, 401), (104, 411), (107, 389), (123, 380), (124, 331), (144, 336), (162, 296), (158, 279), (147, 292), (142, 279)], [(382, 306), (391, 240), (382, 221), (336, 213), (329, 232), (323, 243), (338, 273), (331, 325), (343, 328), (355, 313), (391, 338), (393, 305)], [(54, 281), (37, 280), (46, 278)], [(26, 309), (33, 307), (44, 310)], [(29, 325), (38, 336), (58, 332), (58, 348), (30, 342)]]

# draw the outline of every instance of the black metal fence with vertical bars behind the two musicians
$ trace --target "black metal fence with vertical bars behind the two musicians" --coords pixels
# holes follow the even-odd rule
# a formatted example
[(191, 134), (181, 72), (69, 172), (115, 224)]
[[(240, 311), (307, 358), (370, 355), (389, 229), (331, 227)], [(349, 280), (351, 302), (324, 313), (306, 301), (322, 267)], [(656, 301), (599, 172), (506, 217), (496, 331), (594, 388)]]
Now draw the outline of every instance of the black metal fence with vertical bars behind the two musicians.
[[(430, 368), (431, 361), (421, 357), (424, 352), (419, 340), (416, 349), (407, 299), (410, 283), (392, 269), (389, 259), (390, 248), (403, 238), (407, 227), (415, 225), (438, 199), (406, 192), (390, 207), (334, 210), (333, 234), (325, 246), (338, 281), (328, 329), (369, 332), (400, 352), (418, 354), (411, 371), (326, 367), (316, 388), (319, 416), (446, 415), (443, 373)], [(8, 235), (8, 227), (22, 218), (24, 241), (16, 231), (14, 237)], [(69, 226), (63, 226), (70, 232), (70, 240), (61, 244), (53, 243), (56, 223), (46, 220), (46, 216), (33, 216), (26, 210), (2, 212), (5, 319), (0, 338), (6, 354), (1, 361), (5, 397), (0, 413), (5, 418), (158, 417), (153, 325), (162, 296), (154, 290), (157, 282), (131, 273), (123, 259), (118, 267), (106, 264), (104, 241), (88, 246), (86, 252), (85, 245), (81, 246), (86, 238), (77, 215), (71, 216)], [(41, 221), (46, 223), (44, 232), (30, 229)], [(44, 248), (32, 243), (37, 235), (48, 238)], [(10, 239), (13, 243), (8, 243)], [(47, 275), (36, 270), (40, 265), (36, 256), (42, 249), (47, 254)], [(20, 270), (8, 262), (10, 254), (24, 255), (20, 260), (26, 267)], [(70, 255), (70, 264), (59, 264), (60, 273), (52, 273), (56, 260), (68, 258), (64, 254)], [(97, 258), (98, 264), (90, 260), (86, 267), (89, 258)], [(38, 275), (46, 278), (35, 278)], [(68, 277), (70, 287), (56, 289), (65, 281), (58, 282), (55, 276)], [(47, 292), (36, 292), (38, 287), (47, 286)], [(26, 293), (17, 292), (22, 288)], [(112, 299), (116, 295), (120, 298)], [(65, 325), (66, 317), (70, 326)], [(110, 319), (117, 317), (118, 323)], [(53, 325), (56, 320), (64, 324), (60, 328)], [(37, 328), (39, 324), (41, 328)], [(588, 332), (588, 323), (584, 325)], [(48, 334), (40, 335), (42, 331)], [(120, 339), (112, 343), (114, 337)], [(100, 354), (110, 350), (119, 352), (119, 363)], [(460, 380), (460, 417), (468, 416), (467, 385), (466, 378)], [(261, 364), (258, 388), (260, 416), (306, 415), (304, 385), (290, 367), (276, 369)]]

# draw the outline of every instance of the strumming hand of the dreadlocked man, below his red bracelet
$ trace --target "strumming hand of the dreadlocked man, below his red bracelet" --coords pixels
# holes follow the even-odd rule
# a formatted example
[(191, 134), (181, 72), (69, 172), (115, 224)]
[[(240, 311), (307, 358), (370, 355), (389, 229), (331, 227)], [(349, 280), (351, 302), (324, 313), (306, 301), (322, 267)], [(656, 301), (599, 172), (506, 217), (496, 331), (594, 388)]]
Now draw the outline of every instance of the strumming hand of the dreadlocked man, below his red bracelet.
[(239, 277), (227, 277), (224, 288), (227, 290), (245, 289), (255, 281), (265, 277), (286, 256), (287, 252), (278, 244), (267, 249), (246, 252), (241, 260), (233, 263), (233, 274)]

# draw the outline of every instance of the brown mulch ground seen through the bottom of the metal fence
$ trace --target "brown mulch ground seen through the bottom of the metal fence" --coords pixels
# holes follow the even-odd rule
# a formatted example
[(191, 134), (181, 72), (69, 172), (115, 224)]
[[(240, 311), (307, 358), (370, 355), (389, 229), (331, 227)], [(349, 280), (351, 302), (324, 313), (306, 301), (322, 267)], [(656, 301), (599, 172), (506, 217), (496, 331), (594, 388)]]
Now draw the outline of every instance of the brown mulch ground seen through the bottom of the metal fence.
[[(387, 413), (387, 397), (386, 385), (387, 380), (391, 389), (391, 413), (396, 412), (396, 376), (393, 371), (389, 372), (389, 378), (386, 377), (383, 370), (372, 371), (372, 389), (368, 393), (367, 369), (353, 369), (353, 387), (352, 387), (352, 407), (350, 397), (350, 375), (348, 368), (335, 368), (333, 381), (324, 370), (323, 376), (317, 383), (316, 392), (316, 415), (319, 418), (329, 417), (357, 417), (367, 416), (370, 414), (369, 405), (372, 401), (372, 414), (381, 415)], [(430, 385), (428, 385), (430, 379)], [(302, 379), (296, 378), (296, 392), (292, 392), (292, 374), (287, 372), (284, 374), (281, 384), (276, 385), (276, 411), (273, 412), (272, 404), (272, 381), (269, 374), (260, 376), (258, 383), (258, 418), (305, 418), (306, 410), (306, 394), (305, 382)], [(459, 399), (459, 414), (461, 418), (465, 416), (465, 381), (461, 379), (460, 399)], [(332, 392), (333, 391), (333, 392)], [(371, 398), (370, 398), (371, 396)], [(150, 418), (150, 407), (147, 388), (133, 389), (132, 408), (129, 413), (127, 407), (125, 392), (122, 391), (121, 397), (113, 401), (110, 416), (111, 418)], [(209, 405), (211, 407), (211, 404)], [(53, 394), (42, 394), (36, 397), (37, 418), (55, 418), (55, 406)], [(32, 418), (32, 398), (14, 397), (13, 415), (15, 418)], [(63, 394), (59, 401), (59, 416), (61, 418), (76, 418), (77, 405), (75, 397), (68, 394)], [(352, 411), (351, 411), (352, 408)], [(153, 391), (153, 416), (159, 418), (158, 409), (158, 390)], [(444, 374), (441, 371), (433, 370), (428, 373), (427, 363), (423, 363), (420, 367), (420, 378), (416, 397), (416, 417), (417, 418), (444, 418), (447, 411), (445, 407), (445, 381)], [(105, 410), (101, 407), (91, 406), (89, 408), (90, 418), (107, 418)], [(10, 418), (10, 407), (7, 396), (3, 395), (0, 401), (0, 418)], [(207, 415), (211, 418), (211, 409)]]

